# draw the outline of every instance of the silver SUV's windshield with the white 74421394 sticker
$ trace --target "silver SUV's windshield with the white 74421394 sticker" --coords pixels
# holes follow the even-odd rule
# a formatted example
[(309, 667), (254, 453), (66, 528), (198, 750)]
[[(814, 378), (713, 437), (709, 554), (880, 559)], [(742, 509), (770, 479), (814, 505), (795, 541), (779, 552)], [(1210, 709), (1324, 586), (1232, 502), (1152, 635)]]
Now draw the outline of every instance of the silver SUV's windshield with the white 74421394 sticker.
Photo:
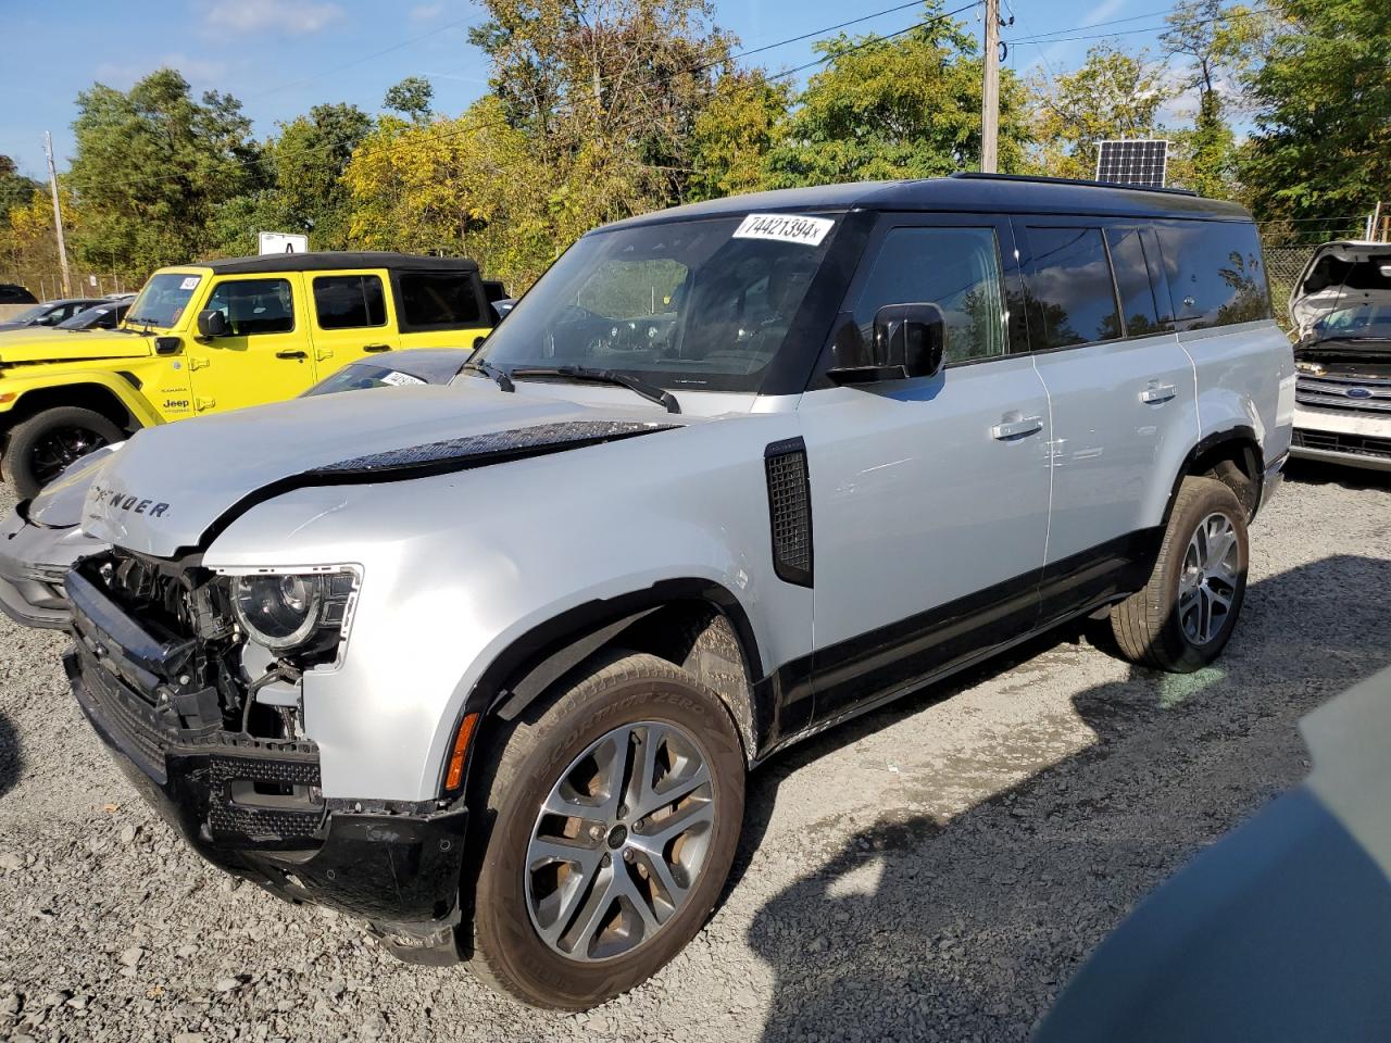
[(668, 388), (757, 391), (833, 218), (751, 214), (580, 239), (484, 342), (505, 370), (579, 366)]

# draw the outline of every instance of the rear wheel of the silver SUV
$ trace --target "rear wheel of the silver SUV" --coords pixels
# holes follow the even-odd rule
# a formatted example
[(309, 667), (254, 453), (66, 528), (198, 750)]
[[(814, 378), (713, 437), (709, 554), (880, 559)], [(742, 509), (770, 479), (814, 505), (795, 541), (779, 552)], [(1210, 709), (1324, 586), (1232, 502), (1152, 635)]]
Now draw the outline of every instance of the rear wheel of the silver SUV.
[(1216, 659), (1241, 615), (1246, 553), (1237, 495), (1214, 478), (1185, 478), (1149, 583), (1111, 609), (1125, 658), (1173, 673)]

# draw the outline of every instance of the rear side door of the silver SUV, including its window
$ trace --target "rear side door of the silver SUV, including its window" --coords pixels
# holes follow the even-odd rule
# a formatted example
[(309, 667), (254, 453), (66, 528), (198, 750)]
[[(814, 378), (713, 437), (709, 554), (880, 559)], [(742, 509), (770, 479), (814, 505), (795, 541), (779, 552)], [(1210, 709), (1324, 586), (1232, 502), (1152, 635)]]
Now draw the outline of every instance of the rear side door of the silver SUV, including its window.
[(1052, 617), (1132, 588), (1153, 562), (1156, 490), (1161, 501), (1173, 460), (1196, 441), (1198, 406), (1148, 223), (1049, 216), (1017, 232), (1029, 343), (1053, 407)]

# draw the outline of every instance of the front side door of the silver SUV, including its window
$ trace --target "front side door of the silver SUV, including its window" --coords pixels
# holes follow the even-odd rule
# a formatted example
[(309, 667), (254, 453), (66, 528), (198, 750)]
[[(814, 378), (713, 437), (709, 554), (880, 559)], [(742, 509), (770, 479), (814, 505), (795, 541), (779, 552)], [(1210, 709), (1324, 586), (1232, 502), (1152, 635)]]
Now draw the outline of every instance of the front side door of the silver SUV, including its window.
[[(935, 377), (808, 391), (814, 713), (911, 687), (1036, 622), (1049, 520), (1049, 403), (1022, 328), (1008, 223), (886, 216), (846, 312), (936, 303)], [(1003, 263), (1006, 261), (1007, 263)]]

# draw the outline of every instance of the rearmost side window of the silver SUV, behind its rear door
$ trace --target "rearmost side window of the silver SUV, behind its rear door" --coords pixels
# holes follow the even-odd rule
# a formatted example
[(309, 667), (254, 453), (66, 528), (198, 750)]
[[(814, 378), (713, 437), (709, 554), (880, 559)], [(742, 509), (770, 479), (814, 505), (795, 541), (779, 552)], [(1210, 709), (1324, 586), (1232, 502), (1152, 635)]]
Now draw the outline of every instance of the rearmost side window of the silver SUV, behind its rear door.
[(1157, 228), (1180, 330), (1270, 317), (1270, 291), (1253, 224), (1166, 221)]

